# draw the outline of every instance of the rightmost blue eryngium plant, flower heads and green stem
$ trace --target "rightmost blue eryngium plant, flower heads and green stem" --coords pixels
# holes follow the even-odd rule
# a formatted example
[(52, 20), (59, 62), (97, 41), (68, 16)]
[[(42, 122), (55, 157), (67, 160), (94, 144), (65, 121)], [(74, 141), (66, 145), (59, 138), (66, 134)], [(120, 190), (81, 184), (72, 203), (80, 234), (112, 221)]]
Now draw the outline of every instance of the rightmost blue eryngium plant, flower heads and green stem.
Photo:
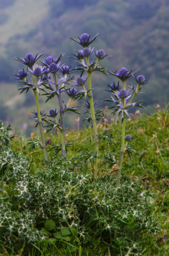
[[(118, 82), (118, 85), (113, 83), (109, 86), (108, 84), (110, 90), (107, 90), (107, 91), (110, 91), (110, 93), (112, 93), (113, 96), (111, 97), (111, 99), (106, 100), (112, 103), (112, 107), (110, 107), (114, 109), (112, 113), (113, 114), (117, 113), (118, 116), (120, 116), (120, 118), (122, 119), (122, 142), (121, 142), (121, 150), (120, 150), (120, 160), (118, 163), (118, 174), (117, 174), (117, 184), (116, 184), (117, 187), (120, 187), (120, 177), (122, 173), (122, 163), (123, 163), (124, 152), (127, 151), (129, 155), (131, 154), (132, 151), (135, 152), (135, 150), (133, 150), (133, 148), (131, 148), (129, 144), (129, 141), (132, 140), (131, 135), (125, 136), (126, 118), (127, 116), (131, 118), (129, 114), (129, 109), (132, 108), (133, 106), (139, 106), (141, 108), (144, 108), (142, 106), (142, 101), (137, 101), (136, 103), (134, 103), (133, 99), (138, 93), (144, 92), (142, 86), (144, 84), (148, 84), (149, 82), (142, 75), (136, 78), (135, 72), (129, 71), (125, 67), (122, 67), (122, 69), (120, 69), (119, 72), (109, 71), (110, 74), (119, 78), (123, 83), (122, 86), (119, 86), (119, 82)], [(129, 90), (128, 91), (126, 90), (126, 81), (131, 77), (135, 78), (136, 86), (129, 86), (129, 88), (131, 88), (131, 92), (129, 92)]]

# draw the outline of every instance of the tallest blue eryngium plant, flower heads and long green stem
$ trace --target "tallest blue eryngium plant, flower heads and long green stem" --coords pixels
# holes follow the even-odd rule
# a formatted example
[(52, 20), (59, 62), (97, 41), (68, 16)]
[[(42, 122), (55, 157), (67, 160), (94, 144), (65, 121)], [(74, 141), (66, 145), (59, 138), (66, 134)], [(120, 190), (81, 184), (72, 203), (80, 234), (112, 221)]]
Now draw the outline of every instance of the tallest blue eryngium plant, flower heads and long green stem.
[[(103, 50), (99, 51), (94, 51), (94, 48), (90, 48), (90, 44), (96, 40), (98, 37), (98, 34), (93, 38), (90, 39), (90, 35), (87, 33), (84, 33), (81, 35), (81, 37), (77, 37), (79, 40), (74, 40), (75, 42), (78, 42), (81, 46), (83, 46), (83, 50), (77, 50), (77, 54), (73, 54), (73, 58), (77, 59), (79, 61), (79, 67), (76, 69), (77, 71), (81, 72), (81, 76), (77, 78), (76, 83), (74, 84), (75, 86), (81, 86), (83, 90), (85, 91), (85, 97), (86, 95), (89, 98), (90, 104), (89, 109), (90, 109), (90, 114), (91, 118), (88, 118), (90, 121), (92, 119), (92, 125), (94, 129), (94, 142), (95, 142), (95, 153), (97, 156), (99, 155), (99, 144), (98, 144), (98, 129), (97, 129), (97, 118), (96, 118), (96, 110), (94, 108), (94, 99), (93, 99), (93, 94), (92, 94), (92, 72), (99, 71), (103, 72), (104, 74), (107, 74), (105, 67), (99, 67), (99, 61), (101, 59), (104, 59), (107, 57), (105, 52)], [(90, 61), (90, 56), (94, 54), (95, 59)], [(87, 73), (87, 78), (83, 78), (83, 73)], [(88, 90), (85, 89), (85, 82), (86, 80), (88, 81)], [(96, 161), (94, 161), (94, 180), (98, 179), (98, 158), (96, 158)]]

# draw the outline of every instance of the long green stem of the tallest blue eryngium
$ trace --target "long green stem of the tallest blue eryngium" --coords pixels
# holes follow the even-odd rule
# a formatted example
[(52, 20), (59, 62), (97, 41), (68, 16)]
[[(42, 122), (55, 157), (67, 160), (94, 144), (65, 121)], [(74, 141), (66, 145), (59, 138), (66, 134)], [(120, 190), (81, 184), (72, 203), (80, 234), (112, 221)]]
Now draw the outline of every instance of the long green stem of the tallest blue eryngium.
[[(89, 63), (89, 58), (86, 57), (86, 63), (89, 67), (90, 63)], [(94, 99), (93, 99), (93, 95), (92, 95), (92, 79), (91, 79), (91, 72), (88, 71), (88, 97), (90, 100), (90, 111), (91, 111), (91, 115), (92, 115), (92, 122), (93, 122), (93, 129), (94, 129), (94, 144), (95, 144), (95, 150), (94, 152), (97, 152), (97, 156), (98, 156), (98, 151), (99, 151), (99, 144), (98, 144), (98, 129), (97, 129), (97, 123), (96, 123), (96, 116), (95, 116), (95, 110), (94, 110)], [(98, 158), (96, 159), (95, 163), (94, 163), (94, 180), (98, 179)]]

